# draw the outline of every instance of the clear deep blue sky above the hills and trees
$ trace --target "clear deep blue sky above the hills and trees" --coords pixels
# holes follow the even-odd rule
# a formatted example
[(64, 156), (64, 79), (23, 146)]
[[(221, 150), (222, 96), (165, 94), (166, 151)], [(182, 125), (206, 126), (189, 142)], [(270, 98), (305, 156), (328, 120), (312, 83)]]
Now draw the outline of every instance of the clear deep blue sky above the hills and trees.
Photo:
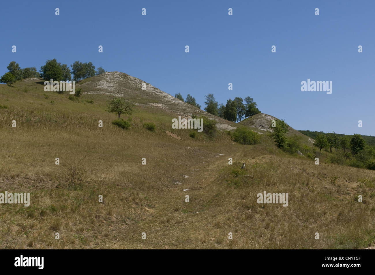
[[(374, 11), (373, 0), (2, 1), (0, 74), (10, 61), (91, 61), (202, 109), (208, 93), (251, 96), (295, 129), (375, 135)], [(332, 94), (302, 92), (308, 78), (332, 81)]]

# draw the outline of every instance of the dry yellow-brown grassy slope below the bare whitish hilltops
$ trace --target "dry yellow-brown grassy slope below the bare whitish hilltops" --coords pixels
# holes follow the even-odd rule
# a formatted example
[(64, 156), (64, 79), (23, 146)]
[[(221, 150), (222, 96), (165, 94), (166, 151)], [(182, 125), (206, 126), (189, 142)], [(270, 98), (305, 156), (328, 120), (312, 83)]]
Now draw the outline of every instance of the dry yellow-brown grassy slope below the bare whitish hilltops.
[[(33, 82), (0, 85), (0, 104), (8, 106), (0, 109), (0, 192), (31, 197), (30, 207), (0, 205), (2, 248), (362, 248), (374, 241), (374, 171), (314, 165), (280, 152), (267, 135), (255, 146), (223, 132), (192, 139), (150, 107), (136, 107), (132, 128), (122, 130), (110, 124), (107, 99), (84, 94), (77, 103)], [(86, 176), (69, 186), (66, 164), (77, 159)], [(257, 204), (264, 190), (289, 193), (289, 206)]]

